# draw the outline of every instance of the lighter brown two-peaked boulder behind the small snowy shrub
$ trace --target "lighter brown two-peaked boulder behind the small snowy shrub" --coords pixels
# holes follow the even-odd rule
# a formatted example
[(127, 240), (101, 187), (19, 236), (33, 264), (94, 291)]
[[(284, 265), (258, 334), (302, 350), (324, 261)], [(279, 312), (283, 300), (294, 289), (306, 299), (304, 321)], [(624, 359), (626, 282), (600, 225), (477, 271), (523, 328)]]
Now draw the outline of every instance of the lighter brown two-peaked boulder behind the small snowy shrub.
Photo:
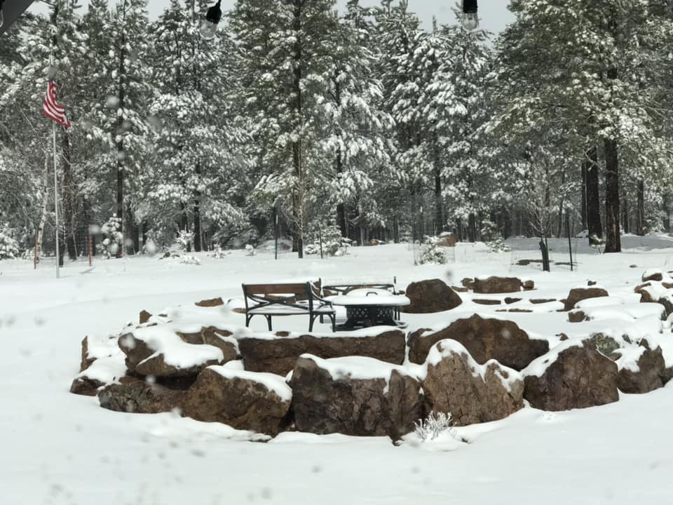
[(524, 381), (495, 360), (478, 364), (460, 342), (437, 342), (423, 379), (433, 412), (451, 414), (457, 426), (496, 421), (523, 408)]

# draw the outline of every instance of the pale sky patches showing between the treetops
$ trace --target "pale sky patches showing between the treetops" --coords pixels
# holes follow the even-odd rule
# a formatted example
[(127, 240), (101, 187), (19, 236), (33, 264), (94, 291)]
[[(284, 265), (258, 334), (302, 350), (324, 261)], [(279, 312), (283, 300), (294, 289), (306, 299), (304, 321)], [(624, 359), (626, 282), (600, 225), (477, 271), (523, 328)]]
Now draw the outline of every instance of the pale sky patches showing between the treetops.
[[(110, 0), (111, 3), (114, 0)], [(456, 5), (457, 0), (409, 0), (409, 10), (419, 15), (423, 25), (429, 28), (432, 25), (433, 15), (437, 17), (440, 24), (453, 24), (455, 16), (451, 8)], [(212, 3), (215, 3), (213, 0)], [(222, 10), (229, 10), (235, 0), (222, 0)], [(83, 0), (86, 5), (87, 1)], [(379, 0), (361, 0), (362, 6), (379, 5)], [(508, 11), (508, 0), (479, 0), (479, 15), (481, 26), (489, 32), (498, 34), (509, 22), (514, 20), (514, 16)], [(337, 6), (343, 8), (346, 0), (337, 0)], [(157, 18), (165, 7), (168, 6), (168, 0), (149, 0), (149, 14), (151, 18)], [(47, 9), (43, 3), (33, 4), (30, 11), (45, 12)]]

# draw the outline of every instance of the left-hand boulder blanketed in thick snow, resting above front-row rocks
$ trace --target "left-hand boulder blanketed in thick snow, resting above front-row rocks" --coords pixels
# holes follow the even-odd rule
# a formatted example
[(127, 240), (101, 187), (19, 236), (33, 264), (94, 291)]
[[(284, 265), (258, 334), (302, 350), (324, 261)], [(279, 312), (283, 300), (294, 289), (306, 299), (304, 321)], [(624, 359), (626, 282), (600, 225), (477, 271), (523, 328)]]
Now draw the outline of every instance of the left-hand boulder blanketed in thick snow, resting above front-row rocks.
[[(137, 375), (190, 377), (210, 365), (224, 363), (219, 346), (185, 340), (170, 325), (155, 325), (125, 333), (118, 344), (126, 355), (128, 369)], [(228, 345), (233, 348), (233, 344)], [(232, 356), (236, 358), (235, 350), (228, 357)]]

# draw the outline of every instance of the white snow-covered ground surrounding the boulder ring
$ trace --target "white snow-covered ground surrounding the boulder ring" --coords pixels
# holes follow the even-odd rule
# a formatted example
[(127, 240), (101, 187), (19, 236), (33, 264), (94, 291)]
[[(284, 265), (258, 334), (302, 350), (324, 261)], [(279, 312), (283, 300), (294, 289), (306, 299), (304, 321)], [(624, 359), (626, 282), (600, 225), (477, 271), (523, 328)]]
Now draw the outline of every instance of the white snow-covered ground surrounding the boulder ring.
[[(537, 263), (512, 265), (512, 257), (540, 257), (534, 241), (517, 239), (514, 245), (513, 253), (487, 257), (460, 250), (461, 263), (418, 267), (407, 245), (353, 248), (346, 257), (326, 260), (285, 253), (275, 261), (268, 253), (250, 257), (243, 251), (222, 260), (200, 254), (200, 265), (158, 257), (95, 260), (93, 269), (83, 262), (67, 265), (60, 279), (48, 264), (34, 271), (26, 262), (0, 262), (1, 503), (671, 503), (673, 386), (622, 395), (599, 408), (524, 408), (501, 422), (458, 429), (468, 444), (438, 440), (400, 447), (388, 438), (303, 433), (254, 443), (249, 433), (221, 424), (111, 412), (95, 397), (68, 392), (85, 335), (116, 332), (137, 321), (142, 309), (157, 314), (200, 299), (240, 297), (243, 282), (390, 282), (396, 276), (404, 288), (423, 278), (459, 285), (463, 277), (513, 274), (536, 283), (538, 289), (522, 292), (523, 298), (562, 298), (587, 280), (628, 298), (646, 269), (673, 269), (673, 239), (667, 236), (625, 237), (628, 249), (620, 255), (583, 248), (577, 271), (552, 265), (550, 274)], [(619, 332), (628, 325), (610, 317), (569, 323), (556, 307), (494, 312), (502, 308), (466, 301), (448, 313), (403, 318), (414, 330), (473, 312), (498, 314), (550, 339), (560, 332)], [(244, 316), (232, 313), (231, 321), (243, 325)], [(307, 325), (303, 317), (274, 319), (274, 330), (304, 331)], [(263, 318), (253, 318), (253, 330), (264, 328)]]

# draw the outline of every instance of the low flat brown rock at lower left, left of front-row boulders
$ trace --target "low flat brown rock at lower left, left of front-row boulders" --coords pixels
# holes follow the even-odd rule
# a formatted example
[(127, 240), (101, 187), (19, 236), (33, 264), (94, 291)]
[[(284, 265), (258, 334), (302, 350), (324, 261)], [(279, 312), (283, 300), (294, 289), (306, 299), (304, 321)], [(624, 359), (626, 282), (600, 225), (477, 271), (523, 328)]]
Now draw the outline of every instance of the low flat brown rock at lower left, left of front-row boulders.
[(183, 391), (173, 391), (144, 381), (110, 384), (98, 393), (102, 408), (138, 414), (170, 412), (179, 408), (182, 398), (184, 398)]

